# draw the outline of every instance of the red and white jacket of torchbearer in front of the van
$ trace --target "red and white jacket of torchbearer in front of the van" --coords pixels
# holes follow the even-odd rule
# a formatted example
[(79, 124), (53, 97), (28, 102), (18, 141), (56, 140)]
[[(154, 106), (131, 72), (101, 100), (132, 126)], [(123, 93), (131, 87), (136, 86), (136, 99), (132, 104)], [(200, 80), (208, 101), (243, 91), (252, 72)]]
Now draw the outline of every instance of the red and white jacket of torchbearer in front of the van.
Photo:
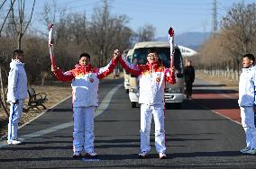
[(119, 58), (121, 65), (130, 74), (138, 76), (140, 86), (139, 103), (164, 104), (164, 88), (166, 81), (175, 84), (175, 76), (172, 76), (169, 68), (158, 64), (133, 65), (124, 58)]

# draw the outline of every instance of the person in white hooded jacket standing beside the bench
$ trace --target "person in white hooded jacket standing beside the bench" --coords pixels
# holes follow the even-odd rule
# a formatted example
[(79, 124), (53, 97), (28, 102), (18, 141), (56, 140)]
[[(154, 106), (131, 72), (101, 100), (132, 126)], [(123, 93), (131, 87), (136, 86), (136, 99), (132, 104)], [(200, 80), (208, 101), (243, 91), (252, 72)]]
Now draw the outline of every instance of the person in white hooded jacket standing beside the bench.
[(14, 58), (10, 63), (8, 76), (7, 102), (10, 102), (10, 117), (8, 123), (8, 144), (21, 144), (18, 140), (18, 123), (23, 115), (23, 102), (27, 97), (27, 76), (24, 69), (23, 50), (14, 50)]

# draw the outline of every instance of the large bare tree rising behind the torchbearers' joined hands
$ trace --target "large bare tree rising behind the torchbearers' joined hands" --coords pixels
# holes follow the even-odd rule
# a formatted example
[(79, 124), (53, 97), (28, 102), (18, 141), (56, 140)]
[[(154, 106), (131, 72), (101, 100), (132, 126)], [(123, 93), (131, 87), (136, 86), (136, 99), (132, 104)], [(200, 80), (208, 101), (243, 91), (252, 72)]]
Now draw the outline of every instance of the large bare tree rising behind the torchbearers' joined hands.
[[(94, 53), (97, 57), (97, 65), (102, 67), (106, 64), (109, 58), (111, 50), (114, 48), (120, 48), (119, 42), (123, 38), (127, 38), (125, 41), (129, 41), (129, 29), (126, 29), (125, 23), (129, 19), (127, 16), (113, 16), (110, 13), (109, 5), (107, 0), (103, 1), (103, 5), (95, 9), (95, 13), (92, 15), (92, 21), (87, 32), (87, 40), (89, 44), (94, 47)], [(124, 33), (128, 33), (124, 35)], [(128, 48), (128, 45), (127, 47)]]

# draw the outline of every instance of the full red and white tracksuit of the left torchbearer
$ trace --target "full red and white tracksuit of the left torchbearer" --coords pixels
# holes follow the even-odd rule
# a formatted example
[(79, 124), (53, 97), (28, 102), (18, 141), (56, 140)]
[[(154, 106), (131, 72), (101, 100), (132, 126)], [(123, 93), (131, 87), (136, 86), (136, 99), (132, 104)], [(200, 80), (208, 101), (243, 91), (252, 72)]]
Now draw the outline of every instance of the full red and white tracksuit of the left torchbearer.
[(59, 81), (72, 81), (74, 152), (81, 152), (83, 147), (87, 153), (94, 152), (94, 113), (98, 106), (99, 79), (113, 72), (116, 63), (117, 60), (113, 58), (106, 67), (77, 65), (65, 73), (60, 69), (55, 73)]

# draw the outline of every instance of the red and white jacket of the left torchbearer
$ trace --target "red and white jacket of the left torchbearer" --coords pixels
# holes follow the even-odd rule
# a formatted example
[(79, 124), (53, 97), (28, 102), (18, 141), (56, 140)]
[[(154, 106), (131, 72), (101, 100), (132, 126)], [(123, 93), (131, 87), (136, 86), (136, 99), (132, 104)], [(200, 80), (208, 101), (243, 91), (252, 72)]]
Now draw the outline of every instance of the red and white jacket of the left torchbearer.
[(77, 65), (74, 69), (63, 73), (59, 68), (55, 76), (59, 81), (72, 81), (73, 107), (98, 106), (99, 79), (113, 72), (117, 60), (112, 59), (106, 67), (96, 68)]

